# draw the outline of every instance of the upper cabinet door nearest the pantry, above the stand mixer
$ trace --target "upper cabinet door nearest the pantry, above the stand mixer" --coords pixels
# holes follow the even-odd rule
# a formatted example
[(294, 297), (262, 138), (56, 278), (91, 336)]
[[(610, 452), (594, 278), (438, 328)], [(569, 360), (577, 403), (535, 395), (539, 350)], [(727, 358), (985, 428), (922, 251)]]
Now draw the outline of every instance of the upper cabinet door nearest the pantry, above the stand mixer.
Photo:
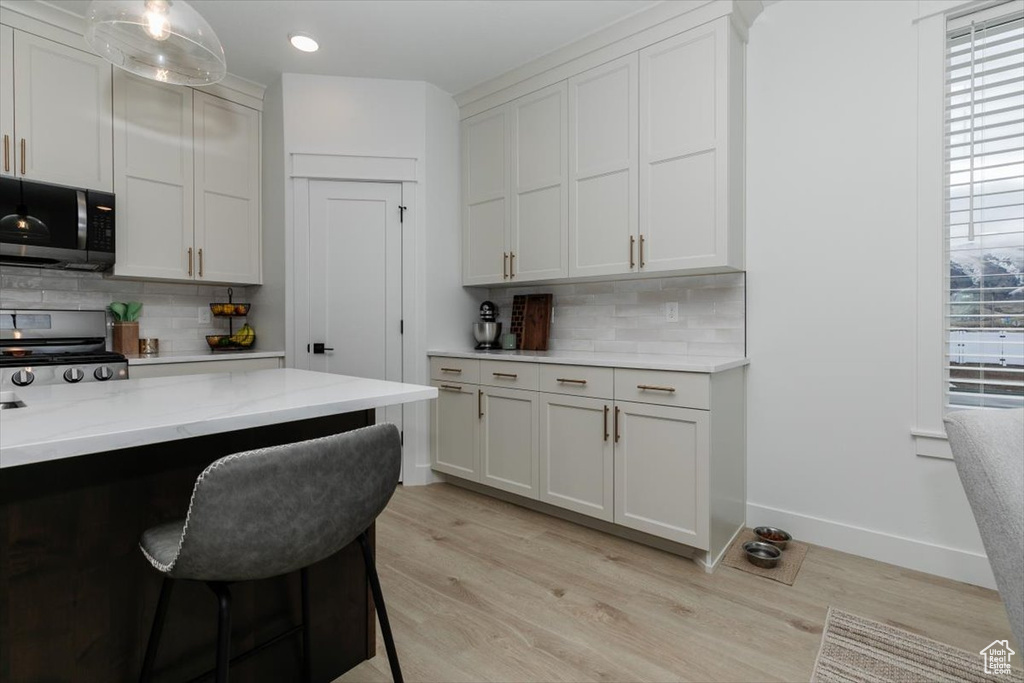
[(462, 122), (462, 284), (508, 278), (509, 109)]

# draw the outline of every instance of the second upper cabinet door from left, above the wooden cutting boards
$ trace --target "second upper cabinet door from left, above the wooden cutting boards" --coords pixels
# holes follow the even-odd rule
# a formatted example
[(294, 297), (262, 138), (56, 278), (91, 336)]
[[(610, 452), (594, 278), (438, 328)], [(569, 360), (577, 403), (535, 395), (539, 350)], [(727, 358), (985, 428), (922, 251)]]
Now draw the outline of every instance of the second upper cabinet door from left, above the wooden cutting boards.
[(566, 84), (556, 83), (511, 104), (512, 216), (509, 279), (568, 274)]

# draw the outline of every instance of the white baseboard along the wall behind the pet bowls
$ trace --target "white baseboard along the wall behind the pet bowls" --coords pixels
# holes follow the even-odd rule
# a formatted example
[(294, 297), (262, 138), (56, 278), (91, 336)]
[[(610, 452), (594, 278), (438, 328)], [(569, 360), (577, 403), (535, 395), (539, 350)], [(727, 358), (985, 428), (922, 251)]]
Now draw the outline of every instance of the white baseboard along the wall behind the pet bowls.
[(995, 589), (988, 557), (982, 553), (946, 548), (757, 503), (746, 504), (746, 519), (751, 526), (778, 526), (801, 541), (834, 550)]

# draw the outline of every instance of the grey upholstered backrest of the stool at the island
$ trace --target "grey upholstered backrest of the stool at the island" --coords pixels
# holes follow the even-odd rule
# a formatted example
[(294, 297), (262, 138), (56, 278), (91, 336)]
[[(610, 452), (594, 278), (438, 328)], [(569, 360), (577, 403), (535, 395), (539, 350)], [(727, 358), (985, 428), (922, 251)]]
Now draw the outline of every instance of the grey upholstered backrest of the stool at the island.
[(266, 579), (351, 543), (398, 483), (391, 424), (226, 456), (196, 480), (168, 575)]

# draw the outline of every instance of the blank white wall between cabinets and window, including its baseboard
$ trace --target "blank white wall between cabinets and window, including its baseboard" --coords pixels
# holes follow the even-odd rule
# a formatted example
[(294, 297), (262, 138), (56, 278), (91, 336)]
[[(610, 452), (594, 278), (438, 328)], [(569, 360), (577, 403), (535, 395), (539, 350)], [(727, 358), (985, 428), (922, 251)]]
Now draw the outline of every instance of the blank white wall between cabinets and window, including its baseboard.
[(910, 437), (916, 7), (785, 0), (751, 30), (748, 522), (992, 587), (953, 463)]

